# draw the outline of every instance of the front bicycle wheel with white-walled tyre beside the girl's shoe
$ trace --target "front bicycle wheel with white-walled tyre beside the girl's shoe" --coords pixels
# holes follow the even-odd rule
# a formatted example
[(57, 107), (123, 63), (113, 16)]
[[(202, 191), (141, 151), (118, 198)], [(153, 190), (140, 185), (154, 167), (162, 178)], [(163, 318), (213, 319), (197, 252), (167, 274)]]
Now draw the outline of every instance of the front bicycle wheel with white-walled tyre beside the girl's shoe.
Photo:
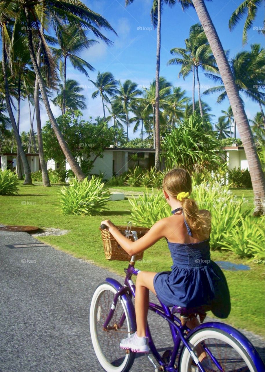
[(117, 302), (107, 329), (103, 328), (116, 292), (106, 282), (96, 288), (90, 305), (90, 335), (103, 369), (107, 372), (126, 372), (133, 364), (135, 353), (126, 353), (126, 350), (120, 349), (120, 340), (133, 333), (132, 322), (122, 298)]

